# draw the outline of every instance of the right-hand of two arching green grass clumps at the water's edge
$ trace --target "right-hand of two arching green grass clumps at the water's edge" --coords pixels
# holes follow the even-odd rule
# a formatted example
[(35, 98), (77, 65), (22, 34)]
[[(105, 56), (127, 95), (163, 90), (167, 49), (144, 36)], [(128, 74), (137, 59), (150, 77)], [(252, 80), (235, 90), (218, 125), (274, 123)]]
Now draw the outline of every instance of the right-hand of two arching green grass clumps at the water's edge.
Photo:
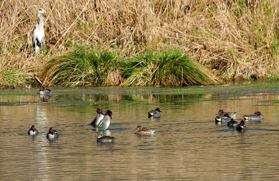
[(149, 51), (125, 62), (122, 86), (189, 86), (221, 82), (209, 69), (180, 49)]

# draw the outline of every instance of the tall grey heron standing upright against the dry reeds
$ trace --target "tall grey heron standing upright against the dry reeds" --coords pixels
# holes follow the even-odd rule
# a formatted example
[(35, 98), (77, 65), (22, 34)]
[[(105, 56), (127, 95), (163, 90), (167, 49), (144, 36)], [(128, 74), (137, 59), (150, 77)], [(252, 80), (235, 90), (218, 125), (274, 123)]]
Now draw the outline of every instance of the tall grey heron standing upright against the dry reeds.
[(35, 25), (34, 29), (33, 29), (33, 47), (35, 48), (35, 55), (39, 54), (39, 49), (42, 48), (42, 43), (43, 43), (43, 39), (45, 37), (45, 31), (43, 29), (43, 16), (41, 15), (42, 13), (45, 13), (46, 10), (40, 8), (38, 10), (38, 18), (40, 20), (40, 22), (38, 24)]

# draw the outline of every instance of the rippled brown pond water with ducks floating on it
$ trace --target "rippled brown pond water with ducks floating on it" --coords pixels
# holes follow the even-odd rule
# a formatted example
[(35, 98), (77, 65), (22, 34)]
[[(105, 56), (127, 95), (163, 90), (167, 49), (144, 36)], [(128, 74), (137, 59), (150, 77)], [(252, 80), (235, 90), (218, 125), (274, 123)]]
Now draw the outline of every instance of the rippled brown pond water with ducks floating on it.
[[(0, 90), (0, 175), (4, 180), (278, 180), (279, 83), (188, 88)], [(103, 132), (88, 125), (112, 110)], [(159, 107), (162, 116), (148, 119)], [(260, 110), (237, 131), (216, 124), (218, 110)], [(34, 124), (39, 134), (29, 136)], [(138, 135), (138, 125), (155, 129)], [(47, 139), (48, 129), (58, 139)], [(116, 137), (97, 143), (97, 135)]]

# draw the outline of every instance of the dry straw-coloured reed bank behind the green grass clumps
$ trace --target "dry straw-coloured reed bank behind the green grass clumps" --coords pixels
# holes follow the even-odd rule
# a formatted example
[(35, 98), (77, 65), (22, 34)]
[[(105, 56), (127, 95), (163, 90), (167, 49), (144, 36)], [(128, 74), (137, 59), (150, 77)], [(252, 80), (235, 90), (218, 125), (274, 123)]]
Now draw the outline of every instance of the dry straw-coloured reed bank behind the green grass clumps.
[[(225, 80), (278, 77), (278, 7), (274, 0), (1, 1), (0, 81), (10, 70), (15, 81), (34, 79), (73, 45), (129, 56), (180, 47)], [(43, 51), (34, 57), (39, 8), (48, 14)]]

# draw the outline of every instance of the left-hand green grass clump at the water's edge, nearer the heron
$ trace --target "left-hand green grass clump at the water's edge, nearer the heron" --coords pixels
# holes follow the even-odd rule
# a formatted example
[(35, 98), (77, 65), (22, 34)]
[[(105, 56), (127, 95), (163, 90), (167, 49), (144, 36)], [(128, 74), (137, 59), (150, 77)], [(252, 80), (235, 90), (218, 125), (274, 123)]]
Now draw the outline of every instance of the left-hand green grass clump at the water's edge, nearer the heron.
[(116, 63), (112, 52), (81, 46), (49, 61), (38, 77), (48, 86), (113, 86), (120, 82)]

